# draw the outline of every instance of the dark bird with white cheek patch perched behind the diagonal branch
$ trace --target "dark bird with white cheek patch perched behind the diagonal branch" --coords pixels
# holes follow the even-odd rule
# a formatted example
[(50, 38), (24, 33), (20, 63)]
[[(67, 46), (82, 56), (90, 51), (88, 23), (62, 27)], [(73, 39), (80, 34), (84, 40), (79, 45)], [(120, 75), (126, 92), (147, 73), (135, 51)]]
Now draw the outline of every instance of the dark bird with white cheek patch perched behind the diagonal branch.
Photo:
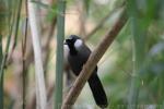
[[(65, 60), (67, 64), (69, 64), (73, 74), (78, 76), (82, 71), (82, 68), (87, 61), (92, 51), (84, 44), (84, 41), (77, 35), (70, 35), (65, 40), (63, 48), (65, 48)], [(95, 66), (94, 71), (89, 77), (87, 83), (92, 90), (92, 95), (95, 99), (96, 105), (101, 108), (107, 108), (108, 106), (107, 96), (101, 83), (101, 80), (97, 75), (97, 65)]]

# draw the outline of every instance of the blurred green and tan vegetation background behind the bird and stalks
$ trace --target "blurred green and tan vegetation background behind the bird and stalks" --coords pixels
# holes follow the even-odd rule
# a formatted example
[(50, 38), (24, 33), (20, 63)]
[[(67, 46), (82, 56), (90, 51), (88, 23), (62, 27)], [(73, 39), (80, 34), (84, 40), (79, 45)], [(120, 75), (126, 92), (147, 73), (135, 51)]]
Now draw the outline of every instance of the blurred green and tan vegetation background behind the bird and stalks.
[[(4, 96), (4, 109), (22, 108), (22, 76), (26, 72), (26, 108), (35, 109), (35, 77), (31, 32), (25, 39), (25, 0), (0, 0), (0, 64), (4, 72), (0, 93)], [(38, 5), (42, 24), (43, 61), (48, 95), (48, 109), (52, 109), (56, 57), (57, 2), (33, 0)], [(124, 0), (67, 0), (66, 37), (77, 34), (87, 35), (86, 45), (94, 49), (112, 28), (119, 15)], [(133, 2), (133, 7), (130, 2)], [(98, 63), (98, 75), (107, 93), (112, 109), (127, 109), (132, 77), (137, 76), (138, 109), (163, 109), (164, 107), (164, 1), (127, 0), (129, 21)], [(21, 9), (19, 9), (21, 7)], [(20, 13), (20, 17), (19, 17)], [(104, 22), (102, 20), (108, 16)], [(133, 20), (134, 19), (134, 20)], [(93, 34), (92, 31), (102, 23)], [(28, 27), (27, 27), (28, 28)], [(17, 33), (17, 34), (16, 34)], [(15, 38), (17, 37), (17, 38)], [(138, 41), (133, 46), (133, 38)], [(25, 40), (24, 40), (25, 39)], [(16, 41), (16, 43), (15, 43)], [(25, 51), (22, 50), (22, 41)], [(24, 43), (26, 41), (26, 43)], [(15, 45), (16, 44), (16, 45)], [(9, 46), (9, 47), (8, 47)], [(15, 48), (13, 47), (15, 46)], [(137, 74), (133, 75), (133, 50), (141, 56)], [(141, 55), (143, 53), (143, 55)], [(24, 55), (24, 57), (23, 57)], [(23, 70), (22, 60), (25, 69)], [(2, 61), (4, 61), (2, 66)], [(2, 72), (0, 72), (2, 74)], [(1, 90), (0, 89), (0, 90)], [(66, 94), (67, 87), (63, 87)], [(133, 90), (132, 90), (133, 92)], [(87, 85), (74, 108), (97, 108)]]

